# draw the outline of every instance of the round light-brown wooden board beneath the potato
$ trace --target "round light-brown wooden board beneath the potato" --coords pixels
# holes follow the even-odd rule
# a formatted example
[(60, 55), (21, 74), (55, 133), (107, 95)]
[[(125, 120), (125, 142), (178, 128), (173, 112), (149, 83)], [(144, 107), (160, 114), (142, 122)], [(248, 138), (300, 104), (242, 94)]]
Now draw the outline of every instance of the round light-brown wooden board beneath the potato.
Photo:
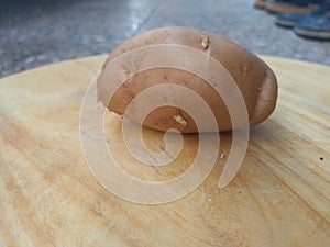
[[(1, 79), (0, 246), (330, 246), (330, 68), (263, 58), (278, 78), (278, 105), (251, 130), (238, 176), (219, 189), (219, 158), (193, 193), (162, 205), (114, 197), (84, 160), (80, 105), (106, 56)], [(106, 121), (130, 169), (120, 124), (116, 115)], [(221, 134), (219, 154), (229, 153), (230, 138)], [(197, 139), (185, 139), (194, 159)], [(168, 169), (158, 176), (183, 167)]]

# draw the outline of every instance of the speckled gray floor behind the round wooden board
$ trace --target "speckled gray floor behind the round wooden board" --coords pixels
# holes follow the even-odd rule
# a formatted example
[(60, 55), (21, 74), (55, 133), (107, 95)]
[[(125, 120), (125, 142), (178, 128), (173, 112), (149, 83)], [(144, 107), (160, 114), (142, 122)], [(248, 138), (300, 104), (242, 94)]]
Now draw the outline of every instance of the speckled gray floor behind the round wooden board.
[(110, 53), (143, 31), (184, 25), (211, 31), (254, 53), (330, 65), (330, 42), (277, 27), (253, 0), (0, 0), (0, 77)]

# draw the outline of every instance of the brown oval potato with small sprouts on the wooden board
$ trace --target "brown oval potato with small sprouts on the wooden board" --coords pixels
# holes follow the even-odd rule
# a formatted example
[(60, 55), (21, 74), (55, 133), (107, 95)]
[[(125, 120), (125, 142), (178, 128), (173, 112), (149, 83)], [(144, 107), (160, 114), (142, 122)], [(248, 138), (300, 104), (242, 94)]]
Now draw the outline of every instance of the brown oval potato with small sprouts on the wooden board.
[[(143, 63), (147, 63), (145, 61), (146, 58), (143, 56), (143, 53), (141, 57), (138, 58), (127, 56), (121, 60), (119, 67), (114, 69), (118, 74), (122, 74), (120, 78), (123, 78), (124, 81), (117, 88), (113, 97), (109, 99), (110, 88), (113, 90), (113, 85), (118, 83), (114, 81), (116, 77), (112, 75), (116, 59), (123, 57), (123, 55), (129, 52), (143, 50), (143, 48), (147, 50), (147, 48), (155, 48), (160, 45), (172, 45), (172, 47), (183, 50), (190, 48), (193, 50), (191, 53), (194, 53), (194, 55), (191, 55), (193, 57), (198, 57), (201, 54), (208, 57), (208, 59), (201, 58), (196, 61), (194, 58), (196, 66), (189, 70), (176, 66), (155, 66), (150, 69), (141, 69), (140, 71), (140, 66)], [(187, 61), (187, 59), (189, 59), (185, 56), (180, 57), (179, 54), (169, 54), (168, 56), (169, 57), (167, 57), (166, 53), (160, 53), (157, 59), (161, 63), (165, 58), (170, 60), (173, 57), (174, 65), (180, 64), (182, 60)], [(232, 85), (229, 85), (228, 80), (226, 82), (224, 77), (213, 78), (213, 85), (211, 85), (206, 81), (205, 78), (194, 72), (200, 69), (200, 71), (204, 71), (206, 75), (211, 75), (217, 68), (212, 67), (215, 63), (211, 66), (210, 59), (219, 63), (218, 67), (222, 68), (222, 74), (224, 76), (228, 74), (229, 76), (227, 77), (232, 78)], [(182, 64), (187, 64), (186, 61), (182, 61)], [(134, 74), (133, 71), (138, 72)], [(156, 108), (142, 121), (139, 116), (143, 114), (145, 106), (153, 104), (153, 100), (144, 99), (144, 101), (140, 103), (134, 102), (134, 100), (139, 98), (139, 93), (146, 89), (167, 83), (186, 87), (200, 96), (209, 105), (217, 121), (218, 128), (215, 130), (211, 127), (208, 123), (210, 120), (204, 120), (202, 130), (198, 128), (196, 120), (189, 113), (189, 109), (182, 109), (177, 105), (165, 104)], [(244, 108), (242, 110), (246, 110), (248, 112), (246, 116), (249, 117), (248, 122), (250, 126), (263, 122), (271, 115), (276, 104), (277, 82), (272, 69), (261, 58), (218, 34), (187, 27), (170, 26), (145, 32), (125, 41), (117, 47), (109, 55), (102, 67), (97, 81), (97, 88), (100, 101), (105, 106), (117, 114), (124, 114), (130, 103), (135, 104), (135, 108), (132, 108), (133, 111), (127, 114), (133, 122), (158, 131), (177, 128), (182, 133), (197, 133), (221, 132), (233, 128), (232, 116), (229, 113), (227, 102), (220, 97), (215, 87), (221, 88), (224, 92), (230, 92), (232, 88), (234, 88), (234, 83), (238, 86), (246, 105), (246, 109)], [(193, 105), (190, 109), (195, 109), (194, 97), (188, 96), (186, 92), (182, 92), (180, 94), (173, 92), (172, 89), (163, 90), (161, 93), (157, 92), (157, 97), (162, 99), (175, 97), (176, 99), (172, 99), (172, 101), (185, 102), (185, 105)], [(199, 111), (202, 112), (204, 110), (199, 109)], [(231, 111), (231, 114), (241, 113), (240, 111)]]

